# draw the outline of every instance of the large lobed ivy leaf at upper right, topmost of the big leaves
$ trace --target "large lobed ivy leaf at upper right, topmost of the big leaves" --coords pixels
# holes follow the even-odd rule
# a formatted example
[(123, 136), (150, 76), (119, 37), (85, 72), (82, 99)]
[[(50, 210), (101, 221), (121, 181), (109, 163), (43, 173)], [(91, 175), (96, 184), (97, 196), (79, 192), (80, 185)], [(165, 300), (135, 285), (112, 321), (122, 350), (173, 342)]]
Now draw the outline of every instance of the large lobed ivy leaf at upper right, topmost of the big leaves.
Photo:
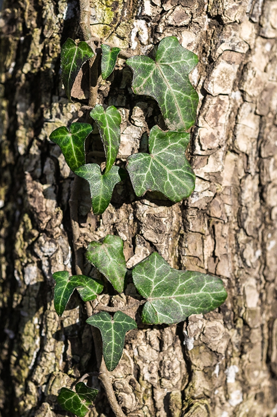
[(197, 62), (198, 57), (181, 47), (175, 36), (160, 41), (155, 61), (147, 56), (126, 60), (134, 72), (134, 92), (158, 101), (169, 130), (184, 131), (195, 123), (198, 94), (188, 74)]

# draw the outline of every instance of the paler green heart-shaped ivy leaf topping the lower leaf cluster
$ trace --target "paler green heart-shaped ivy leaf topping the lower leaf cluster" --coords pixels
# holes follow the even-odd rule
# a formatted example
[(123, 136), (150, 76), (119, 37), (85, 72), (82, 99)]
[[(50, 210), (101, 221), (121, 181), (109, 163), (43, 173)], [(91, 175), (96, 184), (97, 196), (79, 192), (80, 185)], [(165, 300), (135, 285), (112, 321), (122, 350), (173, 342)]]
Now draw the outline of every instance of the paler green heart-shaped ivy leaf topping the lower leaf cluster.
[(86, 257), (111, 282), (116, 291), (123, 291), (127, 269), (123, 240), (119, 236), (108, 234), (103, 243), (91, 242)]

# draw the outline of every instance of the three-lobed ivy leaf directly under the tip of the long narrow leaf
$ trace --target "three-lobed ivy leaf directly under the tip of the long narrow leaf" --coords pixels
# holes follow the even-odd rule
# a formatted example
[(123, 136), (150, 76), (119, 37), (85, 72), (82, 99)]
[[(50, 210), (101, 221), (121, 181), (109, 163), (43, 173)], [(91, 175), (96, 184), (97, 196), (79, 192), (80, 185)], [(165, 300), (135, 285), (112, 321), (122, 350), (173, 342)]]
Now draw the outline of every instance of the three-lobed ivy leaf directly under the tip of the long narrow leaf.
[(109, 206), (114, 186), (121, 181), (119, 169), (118, 166), (112, 166), (109, 172), (101, 174), (99, 165), (86, 164), (74, 171), (89, 183), (91, 204), (95, 215), (102, 214)]

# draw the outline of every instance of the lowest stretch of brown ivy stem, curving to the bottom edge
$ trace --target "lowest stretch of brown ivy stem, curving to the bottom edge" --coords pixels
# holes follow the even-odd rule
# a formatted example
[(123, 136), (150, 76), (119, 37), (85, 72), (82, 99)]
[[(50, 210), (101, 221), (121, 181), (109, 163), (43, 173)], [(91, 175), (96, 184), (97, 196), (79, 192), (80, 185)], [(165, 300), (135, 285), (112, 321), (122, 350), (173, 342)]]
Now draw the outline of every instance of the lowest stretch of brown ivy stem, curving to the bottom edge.
[[(89, 301), (86, 302), (86, 309), (87, 309), (88, 316), (92, 316), (93, 308)], [(105, 389), (107, 399), (109, 401), (109, 404), (113, 412), (115, 413), (115, 416), (126, 417), (126, 415), (123, 413), (120, 405), (117, 402), (113, 385), (112, 385), (112, 381), (111, 381), (111, 377), (110, 377), (110, 372), (106, 368), (106, 364), (105, 364), (105, 361), (101, 352), (101, 348), (99, 347), (102, 345), (100, 332), (97, 328), (93, 326), (91, 326), (91, 331), (92, 331), (92, 336), (93, 336), (93, 341), (94, 341), (94, 346), (95, 346), (97, 366), (99, 368), (98, 379), (102, 383)]]

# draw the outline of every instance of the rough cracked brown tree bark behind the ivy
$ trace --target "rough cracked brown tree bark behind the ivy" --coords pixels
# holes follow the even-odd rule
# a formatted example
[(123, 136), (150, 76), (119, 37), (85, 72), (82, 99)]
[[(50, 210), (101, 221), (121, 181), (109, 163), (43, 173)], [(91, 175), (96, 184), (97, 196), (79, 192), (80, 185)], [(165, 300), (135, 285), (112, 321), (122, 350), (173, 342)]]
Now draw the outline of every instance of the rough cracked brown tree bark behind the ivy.
[[(61, 386), (96, 371), (86, 311), (77, 296), (58, 318), (52, 273), (75, 272), (69, 199), (74, 175), (49, 141), (54, 128), (81, 121), (59, 73), (60, 45), (81, 38), (75, 0), (13, 0), (1, 26), (1, 382), (3, 417), (68, 415)], [(111, 378), (132, 417), (273, 417), (277, 414), (277, 2), (270, 0), (96, 0), (93, 34), (126, 53), (144, 54), (167, 35), (199, 56), (191, 81), (200, 96), (189, 156), (191, 197), (171, 204), (137, 199), (118, 185), (102, 216), (79, 190), (77, 253), (117, 234), (127, 266), (158, 251), (172, 267), (220, 276), (228, 299), (217, 311), (173, 326), (139, 325), (127, 334)], [(156, 103), (133, 95), (119, 60), (98, 102), (119, 107), (119, 161), (162, 126)], [(75, 83), (76, 94), (88, 91)], [(142, 140), (140, 141), (140, 139)], [(95, 143), (95, 145), (94, 145)], [(101, 156), (97, 138), (90, 162)], [(98, 147), (97, 147), (98, 146)], [(99, 162), (99, 158), (97, 159)], [(101, 162), (101, 160), (100, 160)], [(85, 261), (83, 273), (97, 272)], [(132, 294), (129, 286), (129, 294)], [(101, 302), (124, 305), (123, 296)], [(100, 389), (91, 417), (112, 416)]]

